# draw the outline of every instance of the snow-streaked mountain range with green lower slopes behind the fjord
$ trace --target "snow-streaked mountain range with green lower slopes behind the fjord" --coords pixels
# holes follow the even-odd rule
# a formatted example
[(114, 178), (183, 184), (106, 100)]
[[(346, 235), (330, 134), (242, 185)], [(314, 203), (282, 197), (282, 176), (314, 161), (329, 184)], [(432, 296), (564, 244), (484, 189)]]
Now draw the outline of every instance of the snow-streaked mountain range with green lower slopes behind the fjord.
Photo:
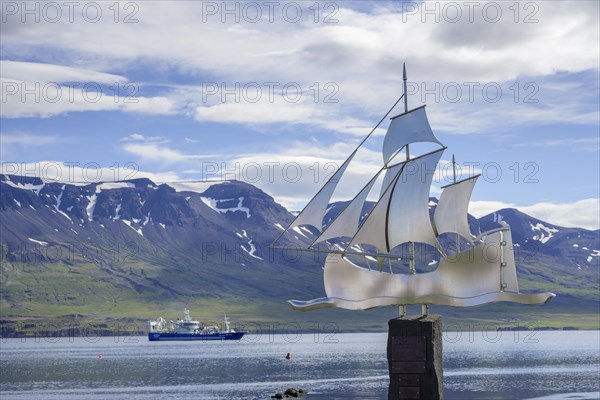
[[(437, 199), (429, 204), (433, 211)], [(343, 205), (330, 204), (325, 221)], [(5, 334), (34, 326), (31, 321), (95, 318), (108, 326), (111, 319), (175, 317), (183, 306), (198, 316), (226, 312), (234, 321), (273, 327), (294, 321), (327, 321), (345, 330), (384, 326), (395, 314), (391, 308), (289, 309), (287, 299), (324, 295), (323, 254), (269, 248), (293, 218), (271, 196), (239, 181), (70, 184), (0, 175)], [(438, 310), (453, 321), (517, 315), (542, 326), (598, 327), (600, 231), (560, 227), (515, 209), (469, 216), (473, 234), (500, 221), (512, 229), (522, 291), (551, 291), (557, 298), (542, 307)], [(284, 244), (308, 243), (315, 233), (295, 228)]]

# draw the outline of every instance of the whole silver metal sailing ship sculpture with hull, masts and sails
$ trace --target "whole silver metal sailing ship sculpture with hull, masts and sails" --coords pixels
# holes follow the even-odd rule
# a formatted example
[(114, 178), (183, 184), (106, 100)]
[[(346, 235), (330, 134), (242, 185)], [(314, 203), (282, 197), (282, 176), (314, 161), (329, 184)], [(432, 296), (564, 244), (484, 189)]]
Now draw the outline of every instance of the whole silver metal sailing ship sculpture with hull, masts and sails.
[[(317, 250), (318, 246), (327, 245), (326, 297), (290, 300), (289, 303), (301, 311), (326, 307), (365, 310), (400, 306), (401, 314), (406, 305), (420, 304), (425, 314), (429, 304), (466, 307), (498, 301), (521, 304), (549, 301), (554, 294), (519, 292), (511, 231), (506, 223), (500, 222), (499, 228), (477, 237), (471, 235), (467, 209), (478, 175), (456, 181), (454, 170), (454, 181), (442, 188), (433, 218), (430, 217), (429, 192), (433, 172), (446, 147), (431, 130), (425, 106), (408, 110), (405, 68), (403, 72), (404, 94), (396, 104), (404, 98), (404, 113), (391, 118), (383, 140), (380, 170), (333, 221), (324, 224), (340, 178), (358, 149), (396, 104), (280, 236), (294, 229), (298, 232), (299, 227), (312, 226), (318, 230), (317, 238), (303, 250), (321, 251)], [(433, 143), (439, 148), (411, 158), (409, 146), (418, 142)], [(406, 158), (398, 161), (404, 155)], [(365, 216), (363, 207), (381, 176), (379, 197)], [(448, 234), (456, 238), (456, 250), (451, 255), (439, 241), (442, 235)], [(339, 238), (350, 240), (340, 242)], [(428, 244), (439, 252), (439, 266), (435, 270), (417, 273), (415, 243)], [(399, 256), (399, 246), (407, 245), (407, 256)], [(391, 261), (406, 259), (408, 271), (394, 273)], [(353, 260), (362, 260), (366, 266)], [(374, 268), (369, 260), (376, 263)], [(390, 263), (389, 272), (383, 268), (385, 261)]]

